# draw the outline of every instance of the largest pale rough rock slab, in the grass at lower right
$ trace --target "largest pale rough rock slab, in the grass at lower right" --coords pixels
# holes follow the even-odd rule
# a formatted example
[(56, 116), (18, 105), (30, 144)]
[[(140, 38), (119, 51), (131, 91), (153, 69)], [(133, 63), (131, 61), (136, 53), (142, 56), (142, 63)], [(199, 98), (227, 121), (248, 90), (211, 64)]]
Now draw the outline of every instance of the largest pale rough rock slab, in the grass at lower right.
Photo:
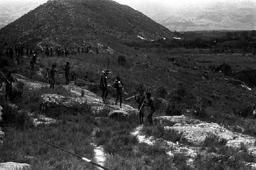
[(216, 134), (220, 139), (231, 140), (236, 135), (215, 123), (202, 123), (198, 125), (184, 125), (177, 127), (164, 127), (182, 133), (181, 140), (194, 145), (201, 145), (209, 133)]

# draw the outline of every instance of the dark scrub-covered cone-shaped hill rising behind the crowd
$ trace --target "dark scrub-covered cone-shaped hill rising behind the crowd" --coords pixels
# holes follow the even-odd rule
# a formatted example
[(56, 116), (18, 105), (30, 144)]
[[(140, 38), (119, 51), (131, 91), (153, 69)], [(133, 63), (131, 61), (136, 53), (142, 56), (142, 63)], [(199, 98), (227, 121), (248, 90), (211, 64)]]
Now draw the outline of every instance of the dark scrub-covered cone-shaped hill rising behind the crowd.
[(111, 0), (53, 0), (0, 30), (0, 45), (47, 40), (61, 45), (115, 40), (157, 40), (172, 36), (165, 27)]

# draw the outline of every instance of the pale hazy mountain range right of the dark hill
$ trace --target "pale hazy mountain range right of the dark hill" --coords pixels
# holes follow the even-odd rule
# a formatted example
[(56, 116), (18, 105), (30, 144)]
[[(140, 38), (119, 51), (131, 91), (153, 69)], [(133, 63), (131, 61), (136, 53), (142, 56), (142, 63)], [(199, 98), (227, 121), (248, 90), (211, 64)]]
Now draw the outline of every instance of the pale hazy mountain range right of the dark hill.
[[(141, 11), (169, 30), (256, 30), (255, 0), (217, 0), (172, 4), (152, 0), (117, 0)], [(182, 2), (182, 1), (181, 1)]]

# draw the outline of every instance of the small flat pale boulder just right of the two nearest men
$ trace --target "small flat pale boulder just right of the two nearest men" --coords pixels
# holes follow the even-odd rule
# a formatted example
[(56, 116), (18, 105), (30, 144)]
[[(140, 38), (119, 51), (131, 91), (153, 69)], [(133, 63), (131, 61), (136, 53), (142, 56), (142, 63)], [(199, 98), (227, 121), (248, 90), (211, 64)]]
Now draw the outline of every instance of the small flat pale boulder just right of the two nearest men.
[(181, 116), (160, 116), (160, 117), (155, 117), (153, 119), (155, 124), (161, 124), (164, 126), (173, 126), (177, 123), (180, 124), (190, 124), (191, 119), (181, 115)]

